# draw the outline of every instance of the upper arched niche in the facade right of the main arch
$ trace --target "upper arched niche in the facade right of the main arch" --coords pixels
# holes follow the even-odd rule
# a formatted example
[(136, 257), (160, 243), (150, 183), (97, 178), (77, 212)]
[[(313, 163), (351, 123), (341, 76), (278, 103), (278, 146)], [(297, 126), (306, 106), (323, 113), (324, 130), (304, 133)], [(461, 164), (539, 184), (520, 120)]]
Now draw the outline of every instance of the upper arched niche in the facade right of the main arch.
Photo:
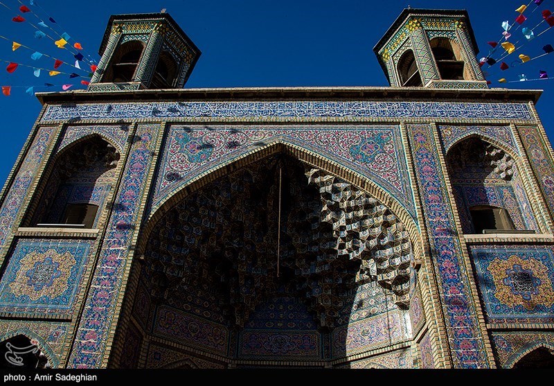
[(539, 231), (511, 152), (473, 135), (449, 148), (446, 164), (465, 234)]

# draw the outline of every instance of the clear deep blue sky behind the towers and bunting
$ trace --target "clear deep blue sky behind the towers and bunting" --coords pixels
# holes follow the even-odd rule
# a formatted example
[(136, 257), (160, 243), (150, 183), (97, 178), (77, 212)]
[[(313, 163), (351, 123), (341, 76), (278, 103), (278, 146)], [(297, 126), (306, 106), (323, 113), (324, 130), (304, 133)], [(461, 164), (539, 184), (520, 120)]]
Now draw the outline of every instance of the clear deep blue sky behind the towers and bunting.
[[(33, 24), (38, 20), (30, 13), (18, 11), (26, 4), (46, 24), (48, 17), (57, 21), (57, 31), (71, 36), (70, 42), (78, 41), (84, 51), (98, 61), (98, 47), (105, 26), (112, 14), (159, 12), (166, 8), (193, 42), (202, 55), (190, 76), (186, 88), (193, 87), (287, 87), (287, 86), (386, 86), (373, 46), (391, 26), (400, 12), (411, 8), (466, 9), (481, 52), (486, 56), (490, 46), (486, 42), (501, 38), (503, 20), (514, 21), (515, 9), (529, 0), (489, 1), (367, 1), (367, 0), (97, 0), (60, 1), (36, 0), (41, 8), (30, 6), (30, 0), (1, 0), (12, 8), (0, 6), (0, 59), (31, 66), (52, 69), (54, 60), (43, 56), (36, 62), (30, 59), (33, 51), (20, 47), (12, 51), (12, 40), (54, 58), (73, 63), (69, 51), (57, 49), (52, 40), (33, 37), (35, 28), (30, 24), (15, 23), (12, 17), (22, 15)], [(522, 26), (534, 27), (542, 19), (539, 11), (554, 12), (554, 1), (545, 0), (537, 11), (532, 3), (524, 15), (528, 16)], [(44, 11), (46, 11), (46, 13)], [(515, 28), (515, 27), (514, 27)], [(537, 27), (535, 34), (542, 32), (546, 23)], [(44, 29), (44, 28), (43, 28)], [(51, 31), (46, 30), (51, 33)], [(55, 36), (55, 35), (53, 35)], [(526, 42), (521, 28), (514, 32), (511, 42)], [(554, 45), (554, 28), (534, 40), (526, 42), (506, 60), (512, 64), (518, 53), (531, 58), (543, 53), (544, 44)], [(501, 50), (500, 50), (501, 51)], [(498, 51), (498, 52), (500, 52)], [(493, 56), (499, 58), (499, 54)], [(8, 73), (8, 63), (0, 62), (0, 83), (14, 86), (11, 96), (0, 94), (0, 182), (3, 184), (21, 150), (41, 105), (34, 96), (25, 94), (28, 86), (76, 84), (71, 89), (83, 89), (80, 78), (69, 79), (66, 74), (48, 76), (44, 71), (39, 78), (33, 69), (19, 66)], [(519, 73), (528, 79), (538, 78), (539, 69), (554, 78), (554, 53), (521, 64), (506, 71), (497, 66), (490, 69), (490, 87), (518, 89), (543, 89), (544, 94), (537, 110), (548, 136), (554, 138), (554, 119), (551, 112), (554, 100), (554, 80), (528, 81), (499, 84), (499, 78), (518, 80)], [(84, 65), (82, 66), (84, 68)], [(487, 67), (485, 65), (485, 67)], [(73, 67), (62, 64), (59, 69), (67, 73)], [(85, 74), (86, 71), (76, 71)], [(17, 87), (15, 87), (17, 86)], [(71, 90), (70, 89), (70, 90)], [(61, 91), (61, 87), (37, 88), (35, 91)]]

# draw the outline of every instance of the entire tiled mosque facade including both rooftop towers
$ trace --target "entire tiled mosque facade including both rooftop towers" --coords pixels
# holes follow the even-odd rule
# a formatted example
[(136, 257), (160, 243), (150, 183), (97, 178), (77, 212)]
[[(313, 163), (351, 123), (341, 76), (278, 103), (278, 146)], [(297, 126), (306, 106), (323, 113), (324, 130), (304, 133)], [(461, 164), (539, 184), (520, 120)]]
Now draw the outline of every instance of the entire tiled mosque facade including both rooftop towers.
[(200, 51), (172, 17), (112, 16), (1, 192), (1, 353), (552, 367), (541, 91), (489, 89), (464, 10), (406, 9), (373, 51), (390, 87), (184, 89)]

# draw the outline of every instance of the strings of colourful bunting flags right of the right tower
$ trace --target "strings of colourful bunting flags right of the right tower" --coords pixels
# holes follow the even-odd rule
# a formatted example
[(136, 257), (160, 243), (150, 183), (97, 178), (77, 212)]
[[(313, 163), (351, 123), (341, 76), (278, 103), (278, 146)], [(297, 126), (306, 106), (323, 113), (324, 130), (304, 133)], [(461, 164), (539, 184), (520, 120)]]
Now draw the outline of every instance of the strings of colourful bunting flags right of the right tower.
[[(490, 71), (488, 69), (499, 69), (500, 71), (507, 71), (515, 67), (519, 67), (522, 64), (527, 64), (528, 62), (533, 62), (539, 58), (554, 52), (552, 44), (542, 45), (542, 51), (535, 55), (528, 55), (528, 53), (521, 53), (523, 47), (528, 46), (528, 44), (546, 33), (552, 27), (554, 27), (554, 15), (550, 10), (540, 9), (544, 0), (531, 0), (527, 5), (522, 4), (519, 6), (515, 12), (517, 16), (510, 23), (510, 21), (502, 21), (502, 33), (498, 41), (490, 41), (487, 44), (491, 47), (487, 56), (479, 60), (479, 67), (483, 71), (485, 78), (490, 77)], [(534, 6), (533, 6), (534, 4)], [(533, 9), (530, 10), (529, 8)], [(537, 12), (537, 17), (535, 20), (533, 14)], [(526, 15), (525, 15), (526, 14)], [(534, 26), (531, 26), (535, 24)], [(516, 34), (519, 28), (521, 27), (520, 33)], [(516, 40), (514, 42), (514, 40)], [(536, 40), (535, 40), (536, 42)], [(529, 48), (527, 48), (530, 50)], [(512, 55), (512, 53), (517, 53), (517, 58), (513, 60), (508, 60), (507, 58)], [(484, 67), (487, 64), (487, 67)], [(499, 76), (497, 82), (499, 83), (511, 83), (511, 82), (523, 82), (530, 80), (548, 80), (548, 73), (546, 69), (539, 69), (536, 78), (528, 78), (526, 74), (519, 73), (518, 80), (507, 80), (506, 77)], [(488, 84), (491, 84), (491, 80), (487, 80)]]

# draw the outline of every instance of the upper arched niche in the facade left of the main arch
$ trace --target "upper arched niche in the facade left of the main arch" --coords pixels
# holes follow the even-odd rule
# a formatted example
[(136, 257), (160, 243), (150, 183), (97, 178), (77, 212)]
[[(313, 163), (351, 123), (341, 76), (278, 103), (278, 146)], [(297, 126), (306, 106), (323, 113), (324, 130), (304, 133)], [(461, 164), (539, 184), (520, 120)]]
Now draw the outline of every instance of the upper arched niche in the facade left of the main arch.
[(98, 134), (64, 147), (48, 168), (27, 225), (98, 227), (116, 182), (119, 157), (118, 150)]

